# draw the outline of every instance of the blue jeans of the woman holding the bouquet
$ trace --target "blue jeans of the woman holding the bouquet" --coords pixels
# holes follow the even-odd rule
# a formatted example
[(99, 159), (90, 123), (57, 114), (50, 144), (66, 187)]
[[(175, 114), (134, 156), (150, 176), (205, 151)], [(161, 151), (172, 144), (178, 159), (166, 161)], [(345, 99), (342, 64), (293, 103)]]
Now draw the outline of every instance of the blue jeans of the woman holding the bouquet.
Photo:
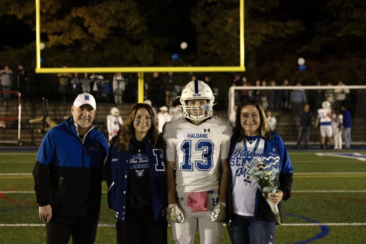
[(231, 214), (227, 222), (230, 240), (233, 244), (274, 243), (276, 222), (255, 220), (253, 217)]

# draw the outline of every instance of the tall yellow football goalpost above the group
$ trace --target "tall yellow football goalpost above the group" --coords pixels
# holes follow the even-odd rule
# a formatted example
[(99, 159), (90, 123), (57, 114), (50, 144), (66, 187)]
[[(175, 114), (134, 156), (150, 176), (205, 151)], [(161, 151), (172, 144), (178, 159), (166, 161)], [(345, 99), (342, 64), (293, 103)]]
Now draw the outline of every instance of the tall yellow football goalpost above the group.
[(40, 31), (40, 0), (36, 0), (36, 73), (138, 73), (138, 102), (143, 102), (144, 72), (244, 72), (244, 0), (240, 2), (240, 66), (202, 66), (202, 67), (67, 67), (41, 68), (41, 31)]

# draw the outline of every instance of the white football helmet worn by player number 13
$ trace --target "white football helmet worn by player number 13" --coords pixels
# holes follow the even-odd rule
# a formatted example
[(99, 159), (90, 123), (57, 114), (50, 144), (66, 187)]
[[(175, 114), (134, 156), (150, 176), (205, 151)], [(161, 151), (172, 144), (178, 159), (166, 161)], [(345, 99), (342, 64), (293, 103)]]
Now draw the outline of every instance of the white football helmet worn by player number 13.
[[(206, 100), (207, 104), (188, 106), (188, 101), (190, 100)], [(201, 121), (212, 115), (212, 107), (215, 105), (213, 104), (214, 100), (212, 90), (206, 83), (201, 80), (193, 80), (183, 88), (179, 101), (182, 104), (184, 117), (190, 120)]]

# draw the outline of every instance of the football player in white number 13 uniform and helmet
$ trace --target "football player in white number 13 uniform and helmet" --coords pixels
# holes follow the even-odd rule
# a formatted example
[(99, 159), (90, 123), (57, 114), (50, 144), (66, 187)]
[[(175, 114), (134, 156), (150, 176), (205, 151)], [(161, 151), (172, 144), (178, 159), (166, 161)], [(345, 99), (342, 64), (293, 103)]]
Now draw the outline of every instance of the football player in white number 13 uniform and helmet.
[[(200, 81), (188, 83), (180, 102), (183, 118), (165, 124), (167, 191), (173, 239), (193, 244), (220, 242), (226, 208), (232, 127), (212, 116), (214, 96)], [(175, 172), (175, 176), (174, 176)]]

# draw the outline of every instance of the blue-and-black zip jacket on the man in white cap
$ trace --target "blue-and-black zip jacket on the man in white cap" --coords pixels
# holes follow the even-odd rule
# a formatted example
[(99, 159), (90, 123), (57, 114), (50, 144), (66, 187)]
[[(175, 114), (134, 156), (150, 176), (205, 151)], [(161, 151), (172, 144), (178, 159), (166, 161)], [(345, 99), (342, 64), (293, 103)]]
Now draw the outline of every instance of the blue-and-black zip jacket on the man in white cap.
[(105, 136), (96, 128), (82, 143), (72, 117), (51, 128), (38, 149), (33, 169), (39, 206), (51, 204), (52, 213), (68, 216), (99, 214), (101, 167), (108, 149)]

